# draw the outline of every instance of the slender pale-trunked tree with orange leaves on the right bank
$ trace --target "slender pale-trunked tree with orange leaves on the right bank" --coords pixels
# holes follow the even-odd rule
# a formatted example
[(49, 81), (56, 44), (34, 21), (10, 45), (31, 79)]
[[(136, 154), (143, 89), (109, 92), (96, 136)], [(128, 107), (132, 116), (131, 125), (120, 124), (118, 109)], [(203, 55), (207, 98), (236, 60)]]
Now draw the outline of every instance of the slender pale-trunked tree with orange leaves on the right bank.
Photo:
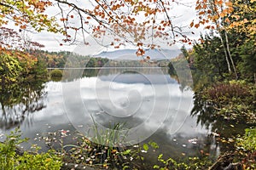
[(195, 9), (198, 11), (199, 22), (195, 24), (193, 21), (190, 26), (198, 28), (202, 25), (205, 26), (205, 29), (217, 31), (224, 48), (228, 70), (231, 72), (232, 65), (237, 78), (236, 65), (230, 53), (230, 40), (227, 31), (227, 26), (230, 23), (230, 14), (234, 11), (233, 3), (225, 0), (198, 0)]

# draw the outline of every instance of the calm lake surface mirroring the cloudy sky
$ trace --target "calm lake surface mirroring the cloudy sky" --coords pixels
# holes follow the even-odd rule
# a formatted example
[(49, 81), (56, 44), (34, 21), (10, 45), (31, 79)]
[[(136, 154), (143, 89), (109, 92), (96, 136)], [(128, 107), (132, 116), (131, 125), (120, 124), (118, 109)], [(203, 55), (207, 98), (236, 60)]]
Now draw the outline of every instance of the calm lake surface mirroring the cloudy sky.
[[(4, 133), (20, 127), (30, 144), (45, 150), (47, 144), (38, 141), (39, 136), (62, 129), (90, 135), (93, 117), (103, 128), (124, 123), (132, 144), (156, 142), (160, 149), (155, 155), (198, 156), (207, 150), (218, 156), (219, 146), (209, 138), (211, 131), (190, 116), (193, 91), (182, 87), (168, 70), (87, 69), (66, 71), (66, 75), (60, 82), (36, 81), (3, 90), (1, 140)], [(65, 142), (72, 143), (71, 139)]]

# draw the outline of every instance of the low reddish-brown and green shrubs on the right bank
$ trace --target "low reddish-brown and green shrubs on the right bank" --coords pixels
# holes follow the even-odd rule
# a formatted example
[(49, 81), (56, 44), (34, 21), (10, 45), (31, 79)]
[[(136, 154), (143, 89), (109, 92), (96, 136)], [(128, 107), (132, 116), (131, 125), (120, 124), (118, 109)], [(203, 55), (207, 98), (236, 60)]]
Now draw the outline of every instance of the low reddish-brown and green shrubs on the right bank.
[(245, 82), (218, 83), (195, 94), (195, 107), (191, 113), (201, 112), (202, 116), (210, 111), (213, 120), (223, 116), (224, 119), (253, 124), (256, 122), (255, 95), (255, 86)]

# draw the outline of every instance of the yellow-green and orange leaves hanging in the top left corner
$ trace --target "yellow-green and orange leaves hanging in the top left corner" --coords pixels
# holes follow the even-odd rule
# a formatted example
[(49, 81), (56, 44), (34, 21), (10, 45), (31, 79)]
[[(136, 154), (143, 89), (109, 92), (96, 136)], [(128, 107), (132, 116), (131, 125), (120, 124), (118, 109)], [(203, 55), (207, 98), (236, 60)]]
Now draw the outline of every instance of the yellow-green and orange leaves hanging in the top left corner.
[(50, 6), (52, 6), (52, 3), (48, 0), (3, 0), (0, 3), (0, 26), (7, 25), (9, 20), (12, 20), (15, 22), (15, 26), (19, 26), (20, 29), (31, 26), (36, 31), (60, 31), (55, 18), (45, 14), (46, 8)]

